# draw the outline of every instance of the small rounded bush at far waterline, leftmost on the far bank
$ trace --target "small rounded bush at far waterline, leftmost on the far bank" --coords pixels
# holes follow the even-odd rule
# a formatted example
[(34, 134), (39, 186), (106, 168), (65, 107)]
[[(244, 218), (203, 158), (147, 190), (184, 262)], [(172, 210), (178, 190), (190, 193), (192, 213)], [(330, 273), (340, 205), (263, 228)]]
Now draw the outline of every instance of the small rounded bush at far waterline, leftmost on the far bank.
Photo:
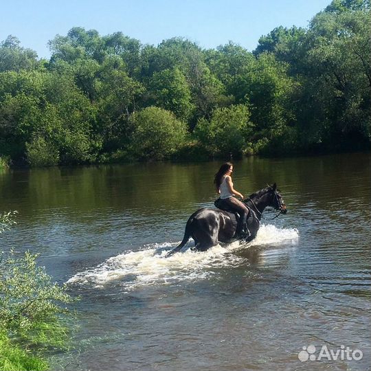
[(56, 166), (59, 161), (59, 153), (52, 144), (43, 137), (34, 137), (26, 144), (27, 161), (32, 167)]

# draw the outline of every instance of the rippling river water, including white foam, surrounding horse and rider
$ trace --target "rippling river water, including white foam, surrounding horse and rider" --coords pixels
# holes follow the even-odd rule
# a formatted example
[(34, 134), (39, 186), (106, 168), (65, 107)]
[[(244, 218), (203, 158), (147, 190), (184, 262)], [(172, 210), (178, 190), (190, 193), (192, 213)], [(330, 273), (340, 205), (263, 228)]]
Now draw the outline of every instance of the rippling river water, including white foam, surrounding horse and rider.
[(235, 161), (235, 188), (276, 182), (288, 214), (248, 245), (164, 258), (220, 164), (0, 174), (1, 210), (19, 211), (2, 249), (40, 253), (80, 295), (54, 370), (370, 370), (370, 153)]

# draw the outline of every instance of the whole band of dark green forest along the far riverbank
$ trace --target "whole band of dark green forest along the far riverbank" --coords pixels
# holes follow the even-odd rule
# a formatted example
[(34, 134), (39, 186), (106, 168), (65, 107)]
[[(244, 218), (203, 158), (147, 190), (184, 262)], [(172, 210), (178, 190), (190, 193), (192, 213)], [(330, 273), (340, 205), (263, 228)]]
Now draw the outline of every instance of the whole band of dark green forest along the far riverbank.
[(54, 166), (363, 150), (370, 0), (333, 0), (253, 52), (72, 28), (38, 58), (0, 44), (0, 164)]

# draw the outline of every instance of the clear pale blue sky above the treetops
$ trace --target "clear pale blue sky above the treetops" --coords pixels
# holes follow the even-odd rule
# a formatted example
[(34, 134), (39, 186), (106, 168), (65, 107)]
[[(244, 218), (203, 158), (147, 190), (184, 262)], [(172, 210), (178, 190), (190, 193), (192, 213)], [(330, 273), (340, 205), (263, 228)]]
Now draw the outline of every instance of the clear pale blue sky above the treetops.
[(201, 47), (229, 40), (255, 49), (258, 38), (274, 27), (306, 27), (330, 0), (9, 0), (1, 4), (0, 41), (17, 36), (23, 47), (50, 56), (47, 41), (71, 27), (121, 31), (157, 45), (184, 36)]

